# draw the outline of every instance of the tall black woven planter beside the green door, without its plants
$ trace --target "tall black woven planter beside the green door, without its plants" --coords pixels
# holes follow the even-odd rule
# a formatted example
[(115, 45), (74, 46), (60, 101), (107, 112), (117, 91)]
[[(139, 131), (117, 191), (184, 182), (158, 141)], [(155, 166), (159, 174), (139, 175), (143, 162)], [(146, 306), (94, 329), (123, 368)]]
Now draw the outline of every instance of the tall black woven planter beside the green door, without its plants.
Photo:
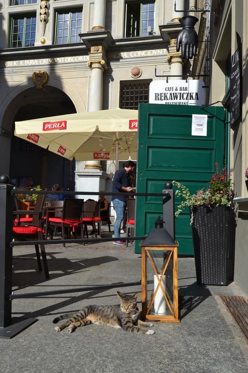
[(233, 210), (226, 206), (195, 206), (193, 243), (198, 285), (228, 285)]

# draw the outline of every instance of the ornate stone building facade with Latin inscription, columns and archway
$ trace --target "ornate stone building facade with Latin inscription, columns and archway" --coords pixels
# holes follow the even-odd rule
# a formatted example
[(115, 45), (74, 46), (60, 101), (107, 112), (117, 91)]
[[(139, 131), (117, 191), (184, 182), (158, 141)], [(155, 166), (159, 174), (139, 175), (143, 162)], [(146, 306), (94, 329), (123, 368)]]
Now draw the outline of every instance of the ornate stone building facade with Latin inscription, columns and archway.
[[(175, 51), (183, 15), (164, 0), (0, 1), (0, 173), (71, 189), (75, 165), (13, 136), (15, 120), (138, 109), (151, 81), (190, 68)], [(106, 188), (112, 166), (98, 163), (77, 163), (76, 188), (87, 172)]]

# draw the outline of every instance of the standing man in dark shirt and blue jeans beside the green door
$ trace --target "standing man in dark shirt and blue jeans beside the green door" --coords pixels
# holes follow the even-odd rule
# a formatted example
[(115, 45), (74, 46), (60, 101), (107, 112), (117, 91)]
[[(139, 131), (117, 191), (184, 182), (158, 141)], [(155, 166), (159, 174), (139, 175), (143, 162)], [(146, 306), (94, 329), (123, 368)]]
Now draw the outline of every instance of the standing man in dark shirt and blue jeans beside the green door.
[[(128, 173), (135, 169), (135, 163), (133, 161), (127, 161), (124, 163), (124, 168), (117, 170), (113, 178), (112, 192), (130, 192), (132, 190), (131, 181), (128, 177)], [(124, 211), (126, 207), (127, 196), (114, 196), (112, 195), (112, 203), (116, 213), (116, 219), (114, 223), (114, 237), (120, 237), (121, 223), (124, 218)], [(114, 241), (116, 245), (124, 245), (124, 241)]]

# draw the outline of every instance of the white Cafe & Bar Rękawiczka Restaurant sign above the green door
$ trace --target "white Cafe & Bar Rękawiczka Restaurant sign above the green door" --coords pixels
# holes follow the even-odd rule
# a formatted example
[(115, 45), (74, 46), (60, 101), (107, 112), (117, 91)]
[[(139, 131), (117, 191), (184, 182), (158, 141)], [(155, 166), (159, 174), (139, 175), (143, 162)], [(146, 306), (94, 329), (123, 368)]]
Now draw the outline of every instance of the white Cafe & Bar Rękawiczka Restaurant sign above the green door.
[(201, 80), (154, 80), (149, 86), (149, 103), (202, 105), (205, 103)]

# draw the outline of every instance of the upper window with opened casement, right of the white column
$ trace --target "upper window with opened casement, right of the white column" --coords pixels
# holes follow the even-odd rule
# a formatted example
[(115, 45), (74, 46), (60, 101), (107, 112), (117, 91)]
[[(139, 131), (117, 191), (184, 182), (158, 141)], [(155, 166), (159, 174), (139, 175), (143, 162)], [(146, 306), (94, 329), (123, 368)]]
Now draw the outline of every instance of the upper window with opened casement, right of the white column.
[(149, 36), (154, 31), (155, 1), (126, 2), (125, 37)]

